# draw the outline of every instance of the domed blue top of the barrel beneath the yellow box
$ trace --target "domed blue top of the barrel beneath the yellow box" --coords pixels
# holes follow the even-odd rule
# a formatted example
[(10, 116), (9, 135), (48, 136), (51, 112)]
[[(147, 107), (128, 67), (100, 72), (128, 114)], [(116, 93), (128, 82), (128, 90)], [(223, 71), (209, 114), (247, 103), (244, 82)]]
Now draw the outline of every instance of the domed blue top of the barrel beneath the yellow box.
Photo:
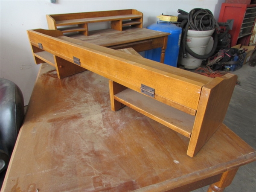
[(182, 30), (181, 27), (176, 26), (173, 23), (169, 22), (158, 22), (158, 23), (153, 23), (149, 26), (146, 27), (147, 29), (152, 29), (155, 31), (161, 31), (161, 32), (172, 32), (172, 33), (180, 33)]

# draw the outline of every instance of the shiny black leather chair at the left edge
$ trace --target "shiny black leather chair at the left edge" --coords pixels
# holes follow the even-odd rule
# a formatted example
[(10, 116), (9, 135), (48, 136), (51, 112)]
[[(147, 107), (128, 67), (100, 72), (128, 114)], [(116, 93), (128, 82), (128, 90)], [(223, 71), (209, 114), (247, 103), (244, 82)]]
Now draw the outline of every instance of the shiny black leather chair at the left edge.
[(0, 188), (24, 118), (24, 100), (20, 88), (0, 78)]

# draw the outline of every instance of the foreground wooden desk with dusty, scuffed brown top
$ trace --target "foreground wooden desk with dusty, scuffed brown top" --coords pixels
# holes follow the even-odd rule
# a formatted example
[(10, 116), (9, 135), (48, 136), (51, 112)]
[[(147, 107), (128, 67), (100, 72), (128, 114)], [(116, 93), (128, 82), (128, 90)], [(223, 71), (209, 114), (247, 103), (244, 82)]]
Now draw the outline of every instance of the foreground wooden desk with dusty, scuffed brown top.
[(2, 192), (186, 192), (219, 180), (212, 188), (224, 188), (256, 160), (223, 124), (193, 158), (188, 143), (131, 108), (111, 111), (108, 79), (90, 71), (58, 79), (43, 64)]

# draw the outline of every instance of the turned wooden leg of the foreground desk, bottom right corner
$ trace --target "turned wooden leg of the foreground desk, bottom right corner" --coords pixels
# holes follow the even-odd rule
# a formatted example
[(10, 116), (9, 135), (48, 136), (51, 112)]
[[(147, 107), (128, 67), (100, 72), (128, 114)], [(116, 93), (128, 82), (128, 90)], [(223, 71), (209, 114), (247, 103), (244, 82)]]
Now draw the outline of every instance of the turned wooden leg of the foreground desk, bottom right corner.
[(221, 176), (221, 180), (219, 180), (217, 183), (211, 184), (207, 192), (223, 192), (225, 187), (232, 183), (237, 170), (238, 168), (224, 172)]

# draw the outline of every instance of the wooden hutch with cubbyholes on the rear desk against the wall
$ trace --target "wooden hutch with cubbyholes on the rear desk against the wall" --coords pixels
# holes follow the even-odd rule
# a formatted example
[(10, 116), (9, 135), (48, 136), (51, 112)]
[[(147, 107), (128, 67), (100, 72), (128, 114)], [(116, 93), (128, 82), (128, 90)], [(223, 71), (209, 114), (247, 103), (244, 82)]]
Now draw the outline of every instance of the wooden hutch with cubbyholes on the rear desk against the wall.
[[(88, 23), (111, 22), (111, 29), (122, 31), (124, 26), (142, 28), (143, 14), (135, 9), (46, 15), (48, 28), (64, 33), (89, 35)], [(67, 26), (67, 27), (63, 27)]]

